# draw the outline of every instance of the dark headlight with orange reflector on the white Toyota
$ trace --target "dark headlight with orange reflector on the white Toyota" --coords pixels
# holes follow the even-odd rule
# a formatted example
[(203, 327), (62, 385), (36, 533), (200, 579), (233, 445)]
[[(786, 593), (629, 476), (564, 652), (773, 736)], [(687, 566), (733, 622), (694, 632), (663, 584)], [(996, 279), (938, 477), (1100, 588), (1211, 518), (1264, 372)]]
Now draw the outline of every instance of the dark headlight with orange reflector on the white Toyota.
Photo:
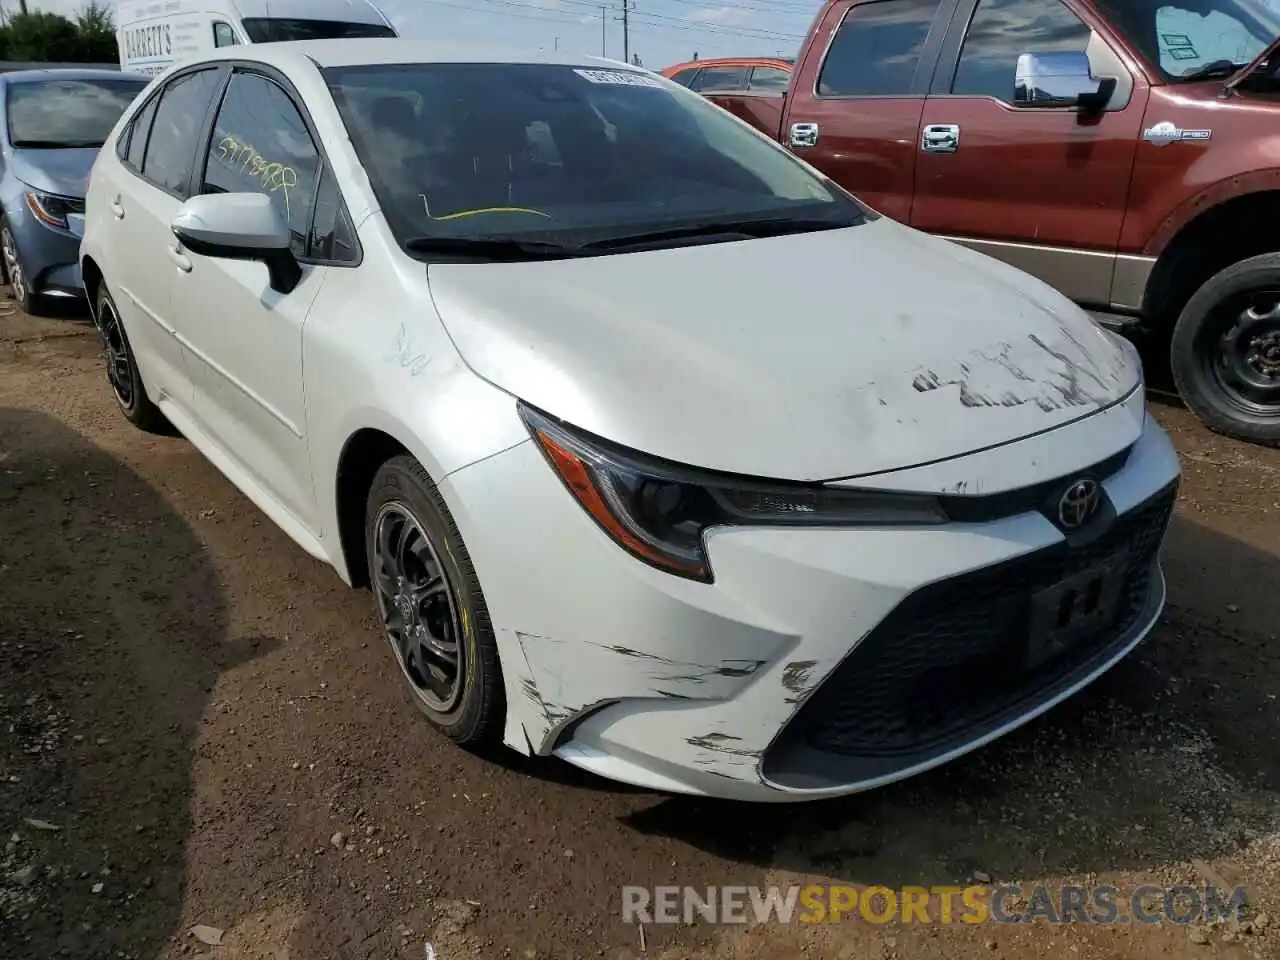
[(613, 540), (668, 573), (712, 582), (712, 526), (919, 526), (947, 522), (937, 498), (754, 480), (684, 467), (588, 436), (520, 404), (547, 462)]

